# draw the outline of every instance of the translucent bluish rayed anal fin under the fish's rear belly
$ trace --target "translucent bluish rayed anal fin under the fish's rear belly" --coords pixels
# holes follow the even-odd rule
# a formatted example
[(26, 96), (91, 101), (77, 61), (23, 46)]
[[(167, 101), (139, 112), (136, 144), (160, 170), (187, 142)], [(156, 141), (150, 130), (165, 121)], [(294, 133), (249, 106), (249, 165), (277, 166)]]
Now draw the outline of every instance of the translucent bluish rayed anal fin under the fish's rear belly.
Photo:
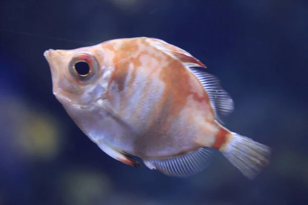
[(209, 165), (213, 148), (203, 147), (182, 156), (168, 159), (147, 159), (144, 164), (149, 169), (156, 169), (165, 175), (185, 178), (195, 175)]

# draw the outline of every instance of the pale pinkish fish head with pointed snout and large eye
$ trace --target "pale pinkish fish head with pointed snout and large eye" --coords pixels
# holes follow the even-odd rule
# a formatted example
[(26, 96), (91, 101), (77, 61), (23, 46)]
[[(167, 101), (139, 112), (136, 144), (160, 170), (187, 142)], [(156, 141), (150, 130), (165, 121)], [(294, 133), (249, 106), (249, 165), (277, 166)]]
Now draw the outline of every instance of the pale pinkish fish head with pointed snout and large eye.
[(88, 107), (106, 98), (112, 53), (102, 45), (73, 50), (46, 50), (52, 90), (65, 106)]

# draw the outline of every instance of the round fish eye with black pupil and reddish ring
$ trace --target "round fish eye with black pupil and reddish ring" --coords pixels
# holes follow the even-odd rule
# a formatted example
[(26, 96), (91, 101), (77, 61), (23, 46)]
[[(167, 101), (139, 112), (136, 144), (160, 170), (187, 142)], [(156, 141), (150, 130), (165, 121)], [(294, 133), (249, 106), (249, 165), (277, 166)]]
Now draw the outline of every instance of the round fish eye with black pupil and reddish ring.
[(74, 55), (69, 63), (69, 72), (81, 83), (89, 83), (98, 72), (98, 61), (90, 53), (80, 52)]

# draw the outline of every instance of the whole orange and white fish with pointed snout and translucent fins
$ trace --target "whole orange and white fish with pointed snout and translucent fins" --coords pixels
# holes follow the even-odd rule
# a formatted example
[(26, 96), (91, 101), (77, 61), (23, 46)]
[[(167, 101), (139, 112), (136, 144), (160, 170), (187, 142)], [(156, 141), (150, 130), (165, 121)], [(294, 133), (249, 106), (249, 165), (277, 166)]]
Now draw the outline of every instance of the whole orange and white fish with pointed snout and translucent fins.
[(205, 170), (214, 153), (254, 179), (271, 148), (228, 130), (234, 110), (219, 79), (187, 51), (152, 37), (44, 52), (54, 96), (110, 157), (170, 177)]

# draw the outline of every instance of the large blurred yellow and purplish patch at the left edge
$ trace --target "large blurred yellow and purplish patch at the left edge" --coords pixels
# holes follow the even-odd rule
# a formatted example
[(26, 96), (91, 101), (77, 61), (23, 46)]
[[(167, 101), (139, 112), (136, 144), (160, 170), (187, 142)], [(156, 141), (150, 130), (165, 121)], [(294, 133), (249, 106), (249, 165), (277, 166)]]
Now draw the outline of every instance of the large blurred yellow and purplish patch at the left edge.
[(6, 96), (1, 102), (6, 139), (14, 152), (35, 160), (51, 160), (59, 154), (63, 136), (59, 120), (38, 105)]

